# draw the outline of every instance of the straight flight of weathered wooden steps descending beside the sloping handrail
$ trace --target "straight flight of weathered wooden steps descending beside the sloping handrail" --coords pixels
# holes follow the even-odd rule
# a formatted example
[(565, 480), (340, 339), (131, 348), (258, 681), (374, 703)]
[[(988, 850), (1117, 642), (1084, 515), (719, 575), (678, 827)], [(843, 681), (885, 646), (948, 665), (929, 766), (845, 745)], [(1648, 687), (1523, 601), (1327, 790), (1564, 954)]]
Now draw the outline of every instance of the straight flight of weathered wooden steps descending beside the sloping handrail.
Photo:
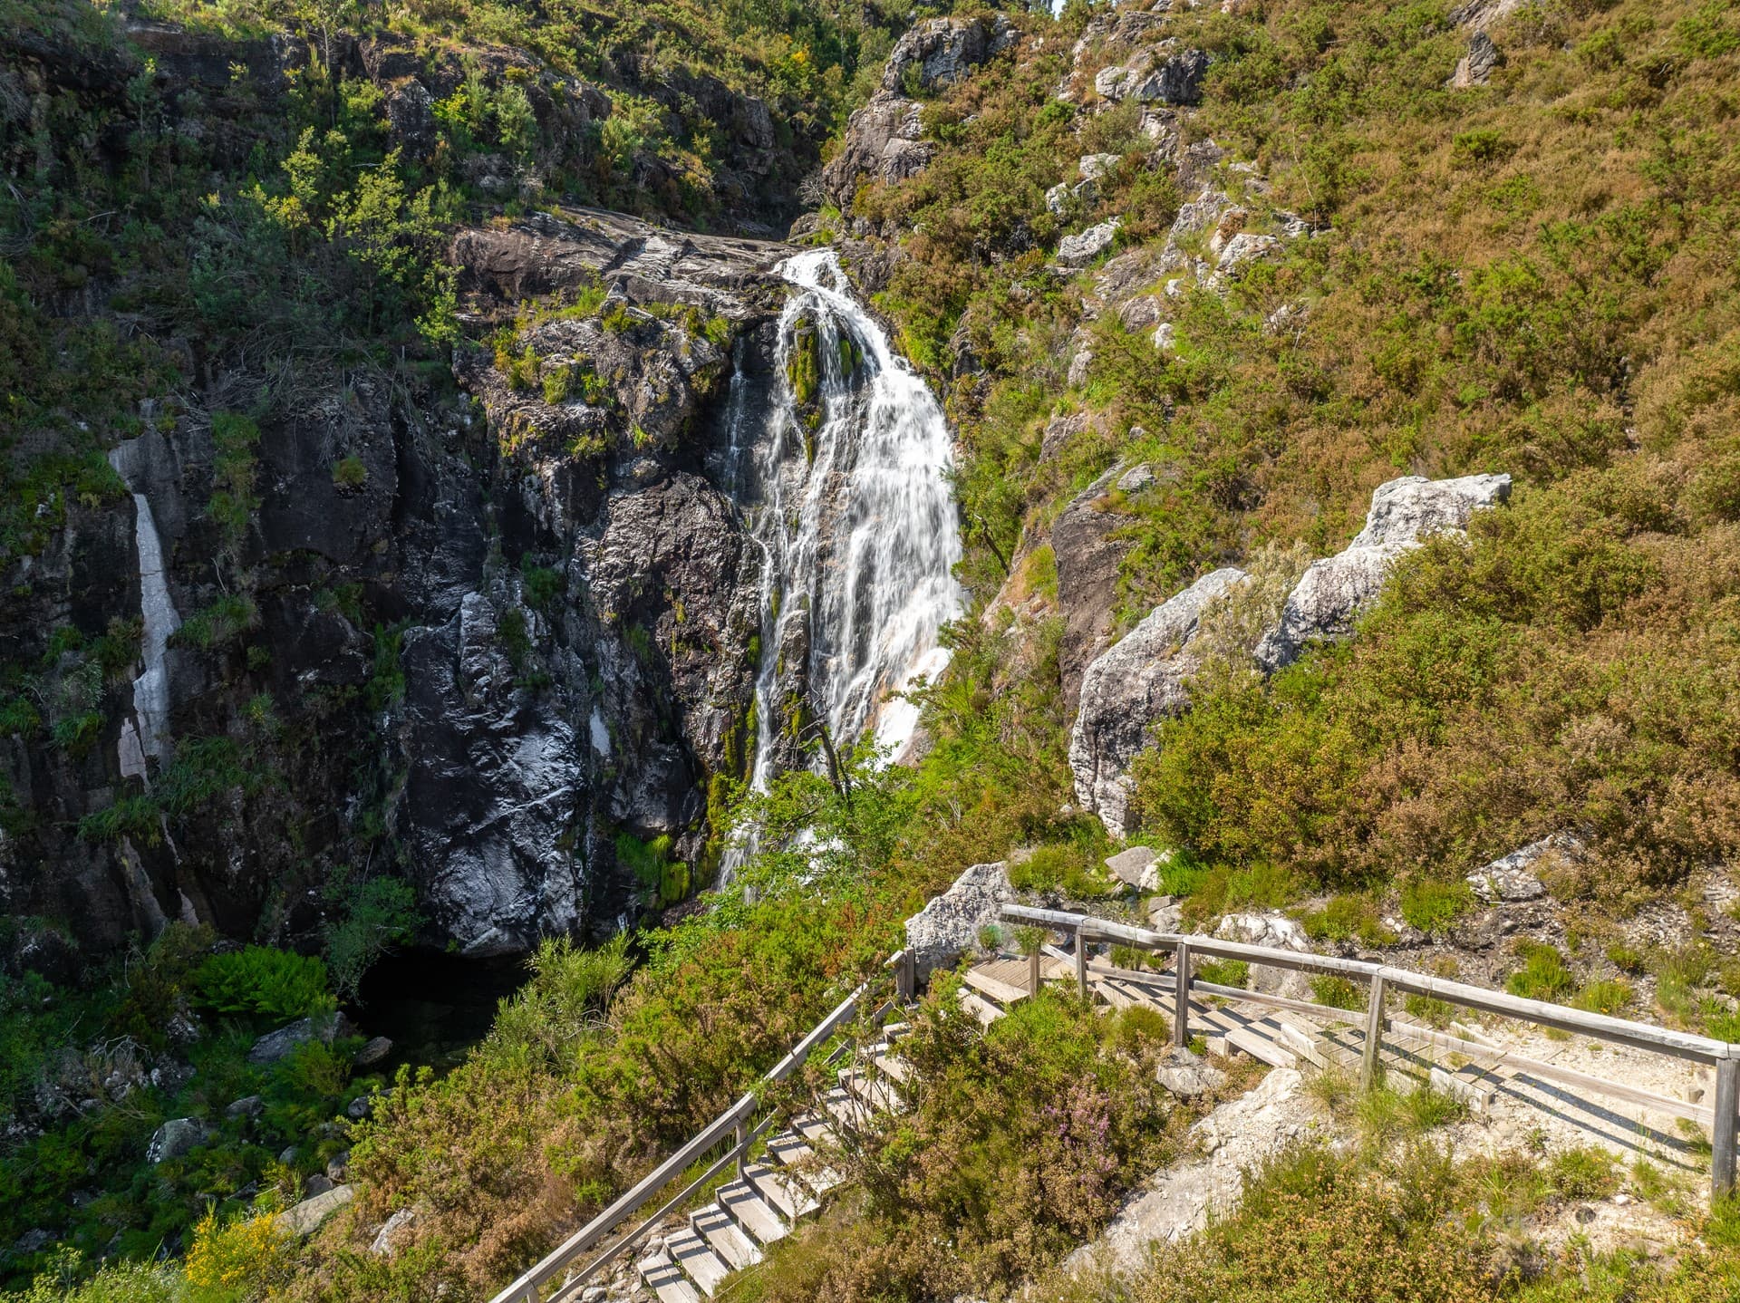
[(900, 1086), (910, 1068), (894, 1044), (905, 1030), (903, 1023), (884, 1026), (875, 1044), (839, 1070), (816, 1108), (767, 1139), (760, 1160), (743, 1164), (713, 1202), (689, 1213), (687, 1226), (647, 1240), (635, 1270), (661, 1303), (712, 1298), (733, 1272), (759, 1263), (762, 1249), (821, 1207), (844, 1179), (826, 1160), (828, 1150), (842, 1146), (842, 1133), (865, 1131), (907, 1108)]

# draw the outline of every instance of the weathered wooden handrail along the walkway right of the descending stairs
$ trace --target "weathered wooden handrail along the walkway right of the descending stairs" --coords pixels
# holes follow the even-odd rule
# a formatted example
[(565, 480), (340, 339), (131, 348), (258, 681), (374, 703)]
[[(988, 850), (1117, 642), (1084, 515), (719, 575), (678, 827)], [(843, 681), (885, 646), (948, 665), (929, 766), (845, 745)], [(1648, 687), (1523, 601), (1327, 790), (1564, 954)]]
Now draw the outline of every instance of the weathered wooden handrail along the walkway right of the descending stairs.
[[(1249, 964), (1293, 969), (1296, 972), (1324, 972), (1340, 978), (1359, 978), (1369, 985), (1371, 995), (1366, 1009), (1366, 1058), (1362, 1079), (1371, 1084), (1376, 1079), (1378, 1044), (1382, 1042), (1383, 1000), (1389, 990), (1425, 995), (1465, 1009), (1477, 1009), (1500, 1018), (1517, 1018), (1524, 1023), (1550, 1026), (1559, 1032), (1606, 1040), (1616, 1046), (1630, 1046), (1651, 1054), (1669, 1054), (1672, 1058), (1709, 1063), (1716, 1068), (1716, 1098), (1712, 1101), (1710, 1127), (1710, 1188), (1716, 1195), (1735, 1190), (1737, 1138), (1740, 1138), (1740, 1046), (1714, 1037), (1700, 1037), (1690, 1032), (1656, 1026), (1655, 1023), (1637, 1023), (1629, 1018), (1611, 1018), (1610, 1014), (1571, 1009), (1547, 1000), (1528, 1000), (1509, 992), (1495, 992), (1486, 986), (1470, 986), (1448, 978), (1429, 978), (1423, 972), (1390, 967), (1389, 964), (1371, 964), (1361, 959), (1342, 959), (1340, 955), (1314, 955), (1310, 952), (1279, 950), (1275, 946), (1248, 945), (1244, 941), (1223, 941), (1215, 936), (1194, 936), (1185, 932), (1155, 932), (1147, 927), (1131, 927), (1108, 919), (1094, 919), (1086, 913), (1067, 913), (1063, 910), (1039, 910), (1030, 905), (1000, 906), (1004, 919), (1021, 924), (1039, 924), (1054, 931), (1075, 936), (1077, 955), (1084, 955), (1086, 941), (1119, 941), (1138, 950), (1171, 950), (1178, 957), (1178, 979), (1173, 981), (1173, 999), (1176, 1018), (1173, 1035), (1178, 1044), (1185, 1040), (1188, 1014), (1188, 992), (1192, 983), (1190, 957), (1213, 955), (1216, 959), (1241, 959)], [(1086, 979), (1086, 964), (1077, 960), (1077, 972)]]

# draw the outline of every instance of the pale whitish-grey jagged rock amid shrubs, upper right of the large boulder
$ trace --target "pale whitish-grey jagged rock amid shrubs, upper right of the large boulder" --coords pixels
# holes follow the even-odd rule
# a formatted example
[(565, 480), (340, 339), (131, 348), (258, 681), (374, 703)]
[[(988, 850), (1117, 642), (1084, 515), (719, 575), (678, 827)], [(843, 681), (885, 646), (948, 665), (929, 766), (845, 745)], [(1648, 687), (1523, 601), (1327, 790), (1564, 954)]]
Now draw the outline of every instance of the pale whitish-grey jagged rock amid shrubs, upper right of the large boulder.
[(1345, 551), (1312, 562), (1288, 595), (1279, 625), (1256, 647), (1256, 663), (1274, 672), (1298, 659), (1314, 640), (1347, 637), (1354, 618), (1383, 588), (1397, 557), (1420, 546), (1429, 534), (1467, 529), (1474, 511), (1509, 496), (1509, 475), (1458, 480), (1406, 475), (1380, 485), (1371, 494), (1366, 527)]

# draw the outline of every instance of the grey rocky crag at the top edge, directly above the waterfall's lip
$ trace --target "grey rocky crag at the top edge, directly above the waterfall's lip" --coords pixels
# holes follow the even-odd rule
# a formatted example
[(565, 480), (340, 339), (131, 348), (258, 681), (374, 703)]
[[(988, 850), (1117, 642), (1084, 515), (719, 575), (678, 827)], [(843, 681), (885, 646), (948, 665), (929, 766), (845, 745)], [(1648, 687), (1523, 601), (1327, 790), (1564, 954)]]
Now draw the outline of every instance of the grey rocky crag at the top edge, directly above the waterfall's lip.
[(1016, 30), (1002, 14), (933, 17), (908, 28), (894, 43), (882, 84), (853, 113), (839, 153), (821, 172), (821, 188), (846, 212), (865, 181), (905, 181), (929, 162), (917, 96), (954, 85), (973, 68), (1014, 43)]

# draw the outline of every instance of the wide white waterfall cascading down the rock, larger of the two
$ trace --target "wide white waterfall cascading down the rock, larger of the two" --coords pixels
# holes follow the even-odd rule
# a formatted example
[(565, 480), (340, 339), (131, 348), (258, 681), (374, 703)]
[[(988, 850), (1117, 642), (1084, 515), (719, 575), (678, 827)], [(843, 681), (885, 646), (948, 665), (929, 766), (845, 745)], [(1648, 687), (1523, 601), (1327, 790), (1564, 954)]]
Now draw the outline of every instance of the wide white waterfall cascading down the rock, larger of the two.
[(952, 440), (936, 397), (856, 303), (832, 251), (797, 254), (780, 275), (795, 292), (780, 317), (773, 400), (753, 412), (750, 386), (734, 384), (727, 411), (729, 464), (745, 480), (733, 487), (764, 560), (755, 790), (799, 762), (814, 729), (793, 720), (825, 720), (842, 752), (865, 729), (898, 752), (917, 710), (891, 694), (941, 672), (938, 630), (960, 607)]

